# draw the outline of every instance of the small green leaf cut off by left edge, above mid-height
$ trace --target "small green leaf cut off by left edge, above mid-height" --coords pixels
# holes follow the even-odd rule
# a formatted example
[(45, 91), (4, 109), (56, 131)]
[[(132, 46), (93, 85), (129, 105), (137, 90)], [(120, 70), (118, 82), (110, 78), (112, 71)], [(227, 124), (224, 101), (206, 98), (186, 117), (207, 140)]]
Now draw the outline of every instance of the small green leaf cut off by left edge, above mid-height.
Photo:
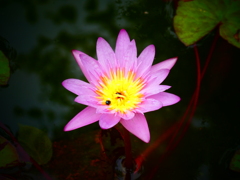
[(0, 51), (0, 86), (6, 85), (10, 76), (9, 62), (6, 56)]

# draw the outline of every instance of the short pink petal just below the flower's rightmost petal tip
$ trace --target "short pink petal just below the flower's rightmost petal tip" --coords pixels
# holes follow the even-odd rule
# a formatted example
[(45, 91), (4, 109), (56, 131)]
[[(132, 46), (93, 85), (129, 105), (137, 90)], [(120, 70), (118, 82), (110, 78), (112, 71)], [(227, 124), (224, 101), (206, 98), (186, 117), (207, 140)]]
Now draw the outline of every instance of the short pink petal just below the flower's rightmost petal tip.
[(153, 98), (147, 98), (145, 99), (138, 110), (140, 110), (142, 113), (150, 112), (150, 111), (156, 111), (162, 107), (162, 103), (156, 99)]

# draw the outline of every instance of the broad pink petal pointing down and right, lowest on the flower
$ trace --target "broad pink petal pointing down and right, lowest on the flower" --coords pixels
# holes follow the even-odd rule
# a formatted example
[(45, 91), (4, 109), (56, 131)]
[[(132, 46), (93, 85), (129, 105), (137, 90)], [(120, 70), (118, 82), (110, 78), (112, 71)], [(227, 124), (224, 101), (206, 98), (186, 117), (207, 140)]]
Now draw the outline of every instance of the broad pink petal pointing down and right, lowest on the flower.
[(130, 120), (121, 119), (121, 124), (132, 134), (137, 136), (142, 141), (148, 143), (150, 141), (150, 132), (145, 116), (136, 113), (134, 118)]

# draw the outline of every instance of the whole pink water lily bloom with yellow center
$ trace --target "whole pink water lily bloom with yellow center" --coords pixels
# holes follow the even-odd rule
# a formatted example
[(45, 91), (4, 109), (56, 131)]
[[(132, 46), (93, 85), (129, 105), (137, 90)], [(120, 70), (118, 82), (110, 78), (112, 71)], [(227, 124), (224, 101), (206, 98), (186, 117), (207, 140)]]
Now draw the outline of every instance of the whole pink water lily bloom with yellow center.
[(147, 46), (137, 57), (135, 41), (122, 29), (115, 52), (103, 38), (97, 40), (98, 61), (73, 50), (77, 63), (89, 83), (78, 79), (64, 80), (62, 85), (77, 95), (75, 101), (87, 105), (64, 127), (71, 131), (99, 121), (102, 129), (121, 123), (144, 142), (150, 133), (144, 113), (177, 103), (180, 98), (164, 92), (170, 86), (160, 85), (177, 58), (152, 66), (155, 47)]

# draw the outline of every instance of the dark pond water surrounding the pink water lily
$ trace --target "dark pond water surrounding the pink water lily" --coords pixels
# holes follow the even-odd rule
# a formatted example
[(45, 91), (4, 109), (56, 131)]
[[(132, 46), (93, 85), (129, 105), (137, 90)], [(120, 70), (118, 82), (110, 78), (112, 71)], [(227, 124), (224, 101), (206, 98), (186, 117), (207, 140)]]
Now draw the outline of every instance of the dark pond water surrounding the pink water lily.
[[(177, 128), (169, 130), (187, 110), (197, 77), (193, 46), (186, 47), (174, 32), (175, 1), (0, 2), (0, 47), (11, 68), (8, 85), (0, 89), (1, 122), (16, 138), (19, 124), (38, 128), (50, 138), (53, 153), (41, 167), (52, 179), (114, 177), (114, 162), (124, 154), (119, 132), (101, 132), (98, 123), (63, 132), (65, 124), (84, 106), (73, 101), (75, 95), (61, 82), (85, 79), (72, 49), (96, 57), (97, 38), (103, 37), (114, 48), (120, 29), (136, 40), (138, 54), (154, 44), (154, 63), (178, 56), (163, 84), (171, 85), (168, 92), (180, 96), (181, 102), (146, 114), (149, 144), (131, 136), (134, 158), (167, 136), (146, 156), (139, 179), (240, 179), (239, 171), (229, 167), (240, 149), (238, 48), (218, 38), (190, 126), (186, 118), (179, 132)], [(214, 30), (197, 43), (201, 67), (216, 34)], [(121, 130), (121, 126), (117, 128)], [(2, 128), (0, 132), (13, 141)], [(169, 150), (172, 141), (178, 143)], [(1, 167), (0, 173), (9, 179), (46, 179), (32, 162), (29, 164), (13, 166), (12, 171)]]

